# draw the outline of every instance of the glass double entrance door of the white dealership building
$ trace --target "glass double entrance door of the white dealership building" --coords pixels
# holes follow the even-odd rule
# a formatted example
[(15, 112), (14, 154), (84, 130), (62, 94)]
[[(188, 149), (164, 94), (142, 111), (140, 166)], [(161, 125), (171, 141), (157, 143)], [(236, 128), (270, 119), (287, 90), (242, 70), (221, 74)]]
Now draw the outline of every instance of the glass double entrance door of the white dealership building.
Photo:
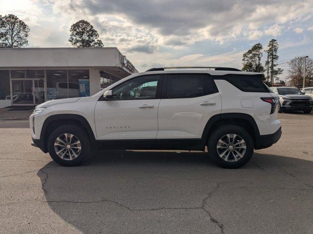
[(12, 105), (34, 106), (45, 102), (44, 79), (12, 79)]

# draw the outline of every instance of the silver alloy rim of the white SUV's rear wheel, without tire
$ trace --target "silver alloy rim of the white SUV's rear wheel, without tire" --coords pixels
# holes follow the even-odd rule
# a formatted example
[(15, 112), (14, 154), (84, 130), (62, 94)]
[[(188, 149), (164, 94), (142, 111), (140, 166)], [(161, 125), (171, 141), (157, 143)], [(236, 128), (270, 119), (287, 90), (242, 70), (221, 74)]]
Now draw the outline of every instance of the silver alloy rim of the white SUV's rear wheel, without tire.
[(236, 162), (246, 153), (245, 140), (236, 134), (226, 134), (221, 137), (216, 146), (217, 153), (226, 162)]

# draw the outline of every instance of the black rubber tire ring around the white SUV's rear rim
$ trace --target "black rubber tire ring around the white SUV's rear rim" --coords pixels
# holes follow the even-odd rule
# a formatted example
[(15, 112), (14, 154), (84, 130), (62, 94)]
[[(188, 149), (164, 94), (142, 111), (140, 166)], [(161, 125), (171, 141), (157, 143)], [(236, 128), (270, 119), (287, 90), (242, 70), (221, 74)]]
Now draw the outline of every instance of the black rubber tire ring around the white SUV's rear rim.
[[(246, 153), (245, 155), (236, 162), (227, 162), (224, 161), (218, 154), (216, 146), (221, 137), (223, 137), (226, 134), (237, 134), (240, 137), (242, 137), (246, 142)], [(236, 125), (225, 125), (222, 127), (219, 127), (218, 129), (214, 130), (214, 132), (211, 134), (210, 138), (208, 139), (208, 152), (210, 158), (216, 162), (218, 165), (224, 168), (239, 168), (244, 166), (253, 155), (253, 139), (249, 135), (249, 133), (243, 129), (242, 127), (236, 126)]]

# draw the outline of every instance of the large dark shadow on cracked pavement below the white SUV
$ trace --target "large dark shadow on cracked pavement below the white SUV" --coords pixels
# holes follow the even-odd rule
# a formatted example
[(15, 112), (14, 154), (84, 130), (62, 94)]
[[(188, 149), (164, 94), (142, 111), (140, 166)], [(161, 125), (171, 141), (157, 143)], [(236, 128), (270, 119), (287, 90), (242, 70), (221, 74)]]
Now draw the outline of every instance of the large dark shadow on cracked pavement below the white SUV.
[[(313, 162), (254, 153), (223, 169), (205, 153), (107, 151), (39, 172), (50, 208), (84, 233), (306, 233)], [(291, 204), (291, 205), (286, 205)], [(312, 220), (311, 220), (312, 221)], [(312, 230), (312, 229), (311, 229)]]

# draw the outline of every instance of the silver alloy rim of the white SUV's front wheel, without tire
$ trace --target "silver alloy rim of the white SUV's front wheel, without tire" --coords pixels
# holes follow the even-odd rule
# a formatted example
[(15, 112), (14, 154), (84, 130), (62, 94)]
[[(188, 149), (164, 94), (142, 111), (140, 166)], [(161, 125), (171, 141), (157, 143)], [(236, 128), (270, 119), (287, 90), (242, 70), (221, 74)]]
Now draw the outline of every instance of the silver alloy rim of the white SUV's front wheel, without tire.
[(80, 155), (82, 145), (78, 137), (70, 133), (64, 133), (54, 141), (54, 150), (61, 159), (70, 161)]

